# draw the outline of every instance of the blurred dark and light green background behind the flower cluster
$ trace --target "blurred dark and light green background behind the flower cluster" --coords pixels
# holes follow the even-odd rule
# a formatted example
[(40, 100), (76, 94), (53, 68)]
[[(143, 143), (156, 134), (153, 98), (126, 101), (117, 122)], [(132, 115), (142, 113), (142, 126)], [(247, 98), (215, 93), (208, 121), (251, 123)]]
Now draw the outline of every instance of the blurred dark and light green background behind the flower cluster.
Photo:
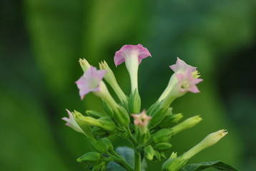
[[(152, 53), (139, 68), (143, 108), (164, 90), (177, 56), (197, 66), (204, 79), (200, 94), (188, 93), (172, 105), (184, 118), (204, 119), (177, 135), (172, 150), (182, 154), (225, 128), (229, 135), (189, 162), (223, 160), (255, 170), (255, 9), (254, 0), (1, 0), (1, 170), (84, 170), (76, 159), (88, 144), (61, 118), (65, 108), (102, 106), (92, 94), (80, 100), (78, 59), (94, 66), (107, 61), (129, 93), (126, 68), (115, 68), (113, 57), (124, 44), (137, 43)], [(129, 145), (112, 140), (115, 147)], [(159, 167), (153, 162), (148, 170)]]

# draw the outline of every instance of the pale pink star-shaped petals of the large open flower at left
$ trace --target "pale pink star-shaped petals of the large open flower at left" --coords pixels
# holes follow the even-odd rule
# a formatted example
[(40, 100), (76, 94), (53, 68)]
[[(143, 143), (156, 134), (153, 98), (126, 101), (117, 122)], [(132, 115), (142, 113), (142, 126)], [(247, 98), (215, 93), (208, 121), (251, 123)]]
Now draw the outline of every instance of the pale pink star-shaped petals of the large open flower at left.
[(102, 81), (106, 72), (104, 70), (97, 70), (93, 66), (84, 72), (84, 75), (76, 82), (81, 99), (89, 92), (99, 91), (99, 83)]

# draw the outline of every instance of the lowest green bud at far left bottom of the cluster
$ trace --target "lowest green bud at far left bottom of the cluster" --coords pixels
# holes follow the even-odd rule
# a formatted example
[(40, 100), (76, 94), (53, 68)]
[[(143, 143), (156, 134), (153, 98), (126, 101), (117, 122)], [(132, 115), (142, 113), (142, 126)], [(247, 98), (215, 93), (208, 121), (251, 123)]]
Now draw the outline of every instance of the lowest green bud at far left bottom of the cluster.
[(101, 160), (102, 155), (99, 152), (87, 152), (77, 159), (77, 162), (85, 162), (87, 165), (95, 165)]

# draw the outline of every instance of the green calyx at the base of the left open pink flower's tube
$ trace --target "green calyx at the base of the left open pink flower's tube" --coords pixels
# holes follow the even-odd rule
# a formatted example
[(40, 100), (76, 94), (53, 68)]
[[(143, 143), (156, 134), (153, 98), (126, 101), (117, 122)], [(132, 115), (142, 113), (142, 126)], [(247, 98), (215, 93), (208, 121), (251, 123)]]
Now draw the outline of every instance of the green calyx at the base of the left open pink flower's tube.
[(123, 108), (121, 105), (117, 107), (117, 110), (118, 112), (114, 113), (114, 119), (117, 120), (117, 123), (119, 123), (120, 125), (127, 126), (130, 121), (127, 110), (125, 110), (125, 108)]

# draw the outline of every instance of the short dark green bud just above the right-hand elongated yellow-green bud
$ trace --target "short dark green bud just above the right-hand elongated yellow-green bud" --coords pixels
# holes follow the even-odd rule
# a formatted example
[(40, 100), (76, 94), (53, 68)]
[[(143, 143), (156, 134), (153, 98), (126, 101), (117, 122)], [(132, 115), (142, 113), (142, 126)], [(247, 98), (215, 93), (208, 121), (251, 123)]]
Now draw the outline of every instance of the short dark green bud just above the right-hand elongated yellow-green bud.
[(179, 120), (183, 118), (182, 113), (178, 114), (168, 114), (164, 117), (164, 119), (159, 123), (160, 128), (170, 128), (172, 125), (177, 123)]

